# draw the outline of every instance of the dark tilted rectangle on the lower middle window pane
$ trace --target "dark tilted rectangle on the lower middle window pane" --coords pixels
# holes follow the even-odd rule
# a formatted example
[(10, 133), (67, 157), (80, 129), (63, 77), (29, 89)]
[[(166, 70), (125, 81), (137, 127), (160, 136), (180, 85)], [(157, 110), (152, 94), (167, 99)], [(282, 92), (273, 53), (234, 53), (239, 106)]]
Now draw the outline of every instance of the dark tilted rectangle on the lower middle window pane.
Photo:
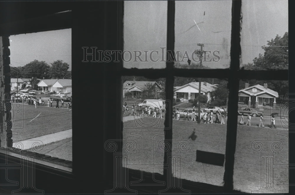
[(197, 150), (196, 161), (200, 163), (210, 164), (210, 165), (223, 166), (224, 154)]

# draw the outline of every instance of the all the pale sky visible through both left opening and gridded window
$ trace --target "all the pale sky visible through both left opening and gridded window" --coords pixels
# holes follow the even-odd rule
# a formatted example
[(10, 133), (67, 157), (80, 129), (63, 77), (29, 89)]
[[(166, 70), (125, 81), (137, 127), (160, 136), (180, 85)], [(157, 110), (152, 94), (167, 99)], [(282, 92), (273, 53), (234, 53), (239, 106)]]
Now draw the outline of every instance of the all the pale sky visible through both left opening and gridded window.
[[(191, 53), (200, 49), (197, 43), (204, 43), (204, 50), (220, 51), (220, 60), (203, 64), (211, 68), (228, 68), (231, 8), (232, 1), (228, 0), (176, 1), (175, 50), (180, 51), (180, 59), (185, 51), (191, 58)], [(288, 1), (242, 1), (242, 14), (241, 64), (247, 64), (264, 52), (261, 46), (266, 45), (267, 40), (288, 32)], [(153, 53), (152, 57), (161, 60), (160, 47), (166, 47), (166, 37), (167, 1), (124, 2), (124, 50), (149, 51), (149, 62), (124, 62), (125, 67), (165, 68), (165, 62), (150, 62), (149, 54), (158, 50), (159, 54)], [(60, 59), (70, 64), (71, 70), (71, 29), (12, 35), (10, 41), (12, 66), (24, 66), (34, 59), (48, 64)], [(125, 57), (128, 59), (129, 54)], [(145, 59), (144, 53), (141, 57)]]

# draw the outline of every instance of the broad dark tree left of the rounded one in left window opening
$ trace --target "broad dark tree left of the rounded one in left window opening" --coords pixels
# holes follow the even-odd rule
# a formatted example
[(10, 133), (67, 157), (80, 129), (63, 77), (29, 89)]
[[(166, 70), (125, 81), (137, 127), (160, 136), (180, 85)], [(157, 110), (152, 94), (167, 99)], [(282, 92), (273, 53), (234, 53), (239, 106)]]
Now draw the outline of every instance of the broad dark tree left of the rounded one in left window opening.
[(22, 72), (22, 78), (36, 77), (37, 79), (43, 79), (45, 77), (44, 73), (48, 71), (49, 67), (45, 61), (34, 60), (23, 66), (21, 70), (19, 69), (19, 72)]

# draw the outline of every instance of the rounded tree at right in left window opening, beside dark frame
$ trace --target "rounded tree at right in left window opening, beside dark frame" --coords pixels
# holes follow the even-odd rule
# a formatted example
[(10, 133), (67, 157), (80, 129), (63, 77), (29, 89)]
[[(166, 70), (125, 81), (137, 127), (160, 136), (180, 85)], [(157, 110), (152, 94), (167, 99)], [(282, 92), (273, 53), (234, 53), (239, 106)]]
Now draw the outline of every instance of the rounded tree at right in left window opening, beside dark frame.
[(70, 66), (68, 63), (63, 62), (62, 60), (57, 60), (50, 64), (51, 66), (48, 73), (51, 78), (63, 78), (68, 75), (68, 69)]

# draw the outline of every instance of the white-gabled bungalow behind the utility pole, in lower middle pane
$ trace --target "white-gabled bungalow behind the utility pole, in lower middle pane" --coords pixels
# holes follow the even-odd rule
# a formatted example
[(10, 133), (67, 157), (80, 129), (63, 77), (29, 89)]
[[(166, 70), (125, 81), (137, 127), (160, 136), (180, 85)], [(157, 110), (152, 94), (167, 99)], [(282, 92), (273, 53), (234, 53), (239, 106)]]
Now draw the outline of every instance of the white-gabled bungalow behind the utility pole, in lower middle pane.
[[(208, 101), (214, 97), (214, 86), (207, 82), (201, 82), (201, 95), (207, 95)], [(199, 82), (190, 82), (180, 87), (174, 87), (174, 98), (179, 98), (181, 102), (194, 100), (199, 94)]]

